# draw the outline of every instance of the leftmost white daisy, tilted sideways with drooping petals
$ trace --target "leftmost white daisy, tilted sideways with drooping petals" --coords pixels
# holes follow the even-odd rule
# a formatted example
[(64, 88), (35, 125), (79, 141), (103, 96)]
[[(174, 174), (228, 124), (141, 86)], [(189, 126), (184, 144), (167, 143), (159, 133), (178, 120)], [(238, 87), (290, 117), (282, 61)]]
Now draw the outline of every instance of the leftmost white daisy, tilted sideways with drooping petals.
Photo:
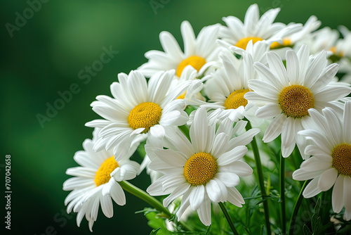
[[(77, 225), (83, 217), (88, 220), (89, 229), (98, 217), (99, 204), (106, 217), (112, 217), (112, 200), (118, 205), (126, 204), (126, 197), (117, 182), (133, 179), (140, 165), (129, 160), (139, 142), (135, 140), (131, 150), (124, 160), (114, 160), (112, 151), (93, 151), (93, 145), (98, 139), (98, 130), (93, 132), (93, 139), (83, 143), (84, 151), (77, 151), (74, 160), (80, 165), (67, 169), (66, 174), (73, 177), (63, 183), (63, 190), (71, 191), (65, 198), (67, 213), (77, 212)], [(139, 140), (140, 141), (140, 140)]]

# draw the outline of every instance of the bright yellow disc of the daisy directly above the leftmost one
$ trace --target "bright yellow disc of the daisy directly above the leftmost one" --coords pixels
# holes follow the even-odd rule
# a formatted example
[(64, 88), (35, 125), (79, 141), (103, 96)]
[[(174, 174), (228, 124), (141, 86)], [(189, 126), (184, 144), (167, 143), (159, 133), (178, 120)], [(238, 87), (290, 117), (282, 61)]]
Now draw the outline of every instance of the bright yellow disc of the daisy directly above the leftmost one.
[(129, 127), (133, 129), (145, 128), (143, 133), (150, 130), (150, 127), (157, 125), (161, 118), (161, 107), (152, 102), (140, 103), (135, 106), (128, 115)]

